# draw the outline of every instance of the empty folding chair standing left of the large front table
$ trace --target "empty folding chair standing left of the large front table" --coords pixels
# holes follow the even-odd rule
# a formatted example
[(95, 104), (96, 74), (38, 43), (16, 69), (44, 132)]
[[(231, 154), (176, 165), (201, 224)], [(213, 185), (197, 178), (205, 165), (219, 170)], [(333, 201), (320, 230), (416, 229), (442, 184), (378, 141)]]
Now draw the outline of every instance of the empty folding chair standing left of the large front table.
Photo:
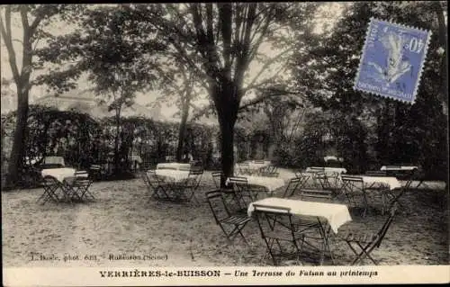
[(217, 225), (223, 231), (229, 242), (232, 242), (238, 235), (248, 245), (246, 238), (242, 234), (244, 229), (251, 219), (247, 214), (239, 212), (232, 213), (219, 190), (206, 193), (206, 200), (211, 208), (212, 215)]

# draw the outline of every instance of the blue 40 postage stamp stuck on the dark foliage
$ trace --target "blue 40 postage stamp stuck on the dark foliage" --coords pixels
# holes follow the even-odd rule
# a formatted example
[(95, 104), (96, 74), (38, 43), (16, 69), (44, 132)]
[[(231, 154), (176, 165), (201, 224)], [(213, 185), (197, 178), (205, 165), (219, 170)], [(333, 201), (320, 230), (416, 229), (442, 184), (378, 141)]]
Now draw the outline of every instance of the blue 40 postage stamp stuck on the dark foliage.
[(355, 89), (414, 103), (431, 31), (372, 18)]

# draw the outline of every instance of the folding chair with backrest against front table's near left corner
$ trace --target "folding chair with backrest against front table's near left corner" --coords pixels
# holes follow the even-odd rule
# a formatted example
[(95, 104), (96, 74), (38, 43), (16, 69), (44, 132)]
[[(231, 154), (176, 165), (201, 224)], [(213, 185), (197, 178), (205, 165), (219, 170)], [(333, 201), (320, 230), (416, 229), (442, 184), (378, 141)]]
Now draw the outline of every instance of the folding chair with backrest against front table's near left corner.
[[(255, 209), (253, 215), (257, 219), (261, 238), (266, 243), (266, 252), (262, 260), (268, 253), (272, 257), (274, 265), (279, 265), (280, 259), (284, 256), (294, 256), (296, 262), (300, 263), (304, 235), (296, 231), (291, 210), (256, 203), (253, 204), (253, 207)], [(299, 241), (301, 242), (299, 243)], [(283, 247), (285, 242), (290, 243), (293, 252), (289, 252), (286, 247)]]

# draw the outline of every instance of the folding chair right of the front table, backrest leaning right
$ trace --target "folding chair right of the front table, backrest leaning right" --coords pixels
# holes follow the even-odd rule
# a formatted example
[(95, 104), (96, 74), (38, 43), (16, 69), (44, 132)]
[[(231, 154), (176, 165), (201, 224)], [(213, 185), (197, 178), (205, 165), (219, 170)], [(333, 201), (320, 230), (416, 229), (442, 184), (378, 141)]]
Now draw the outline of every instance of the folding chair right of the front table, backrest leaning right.
[[(359, 232), (347, 232), (346, 234), (338, 235), (338, 238), (345, 241), (356, 255), (355, 259), (352, 261), (351, 265), (355, 265), (357, 262), (362, 261), (365, 257), (369, 258), (374, 265), (378, 265), (378, 262), (371, 256), (374, 248), (378, 248), (381, 246), (383, 238), (386, 236), (386, 233), (390, 226), (392, 225), (392, 221), (394, 219), (395, 213), (397, 211), (397, 204), (394, 202), (392, 207), (390, 208), (390, 214), (384, 221), (384, 224), (381, 229), (379, 229), (376, 233), (359, 233)], [(356, 247), (361, 251), (357, 251)]]

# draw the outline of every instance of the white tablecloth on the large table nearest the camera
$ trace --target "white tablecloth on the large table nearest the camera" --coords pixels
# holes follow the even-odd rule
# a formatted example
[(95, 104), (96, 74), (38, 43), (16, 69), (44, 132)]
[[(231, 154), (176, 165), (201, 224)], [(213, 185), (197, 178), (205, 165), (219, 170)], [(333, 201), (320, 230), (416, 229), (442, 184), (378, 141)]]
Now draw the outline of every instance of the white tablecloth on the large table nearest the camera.
[(267, 197), (263, 200), (252, 202), (248, 205), (248, 216), (255, 210), (253, 203), (259, 203), (273, 207), (283, 207), (291, 209), (291, 213), (303, 216), (321, 217), (329, 222), (329, 226), (334, 233), (338, 233), (339, 227), (351, 221), (352, 217), (348, 212), (347, 205), (326, 202), (304, 202), (277, 197)]

